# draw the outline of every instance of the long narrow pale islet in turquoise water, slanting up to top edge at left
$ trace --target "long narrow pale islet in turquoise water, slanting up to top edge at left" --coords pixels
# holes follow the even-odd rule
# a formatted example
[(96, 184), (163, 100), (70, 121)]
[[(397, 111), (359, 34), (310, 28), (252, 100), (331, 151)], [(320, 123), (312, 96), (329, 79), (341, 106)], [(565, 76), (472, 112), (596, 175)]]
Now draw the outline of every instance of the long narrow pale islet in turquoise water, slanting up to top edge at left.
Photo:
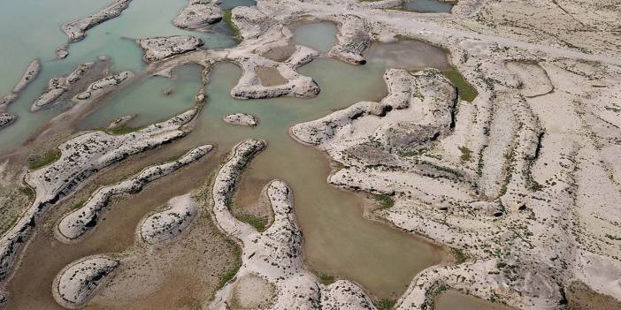
[(101, 11), (88, 15), (85, 18), (75, 19), (65, 23), (61, 28), (68, 37), (65, 45), (60, 46), (56, 50), (58, 58), (65, 58), (69, 54), (67, 46), (69, 43), (78, 42), (86, 36), (88, 29), (97, 26), (108, 19), (114, 19), (123, 12), (132, 0), (115, 0), (112, 4), (106, 6)]

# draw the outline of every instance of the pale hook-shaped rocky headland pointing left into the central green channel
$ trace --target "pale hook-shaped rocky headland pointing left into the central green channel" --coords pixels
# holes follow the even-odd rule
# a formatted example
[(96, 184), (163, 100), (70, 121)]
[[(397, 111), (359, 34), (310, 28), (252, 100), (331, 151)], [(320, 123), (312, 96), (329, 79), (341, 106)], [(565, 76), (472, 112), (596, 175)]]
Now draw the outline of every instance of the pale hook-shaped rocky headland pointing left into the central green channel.
[(389, 95), (381, 102), (358, 102), (327, 117), (295, 125), (292, 134), (304, 143), (350, 154), (353, 149), (349, 147), (372, 141), (398, 152), (415, 152), (449, 132), (456, 90), (441, 72), (389, 69), (384, 80)]

